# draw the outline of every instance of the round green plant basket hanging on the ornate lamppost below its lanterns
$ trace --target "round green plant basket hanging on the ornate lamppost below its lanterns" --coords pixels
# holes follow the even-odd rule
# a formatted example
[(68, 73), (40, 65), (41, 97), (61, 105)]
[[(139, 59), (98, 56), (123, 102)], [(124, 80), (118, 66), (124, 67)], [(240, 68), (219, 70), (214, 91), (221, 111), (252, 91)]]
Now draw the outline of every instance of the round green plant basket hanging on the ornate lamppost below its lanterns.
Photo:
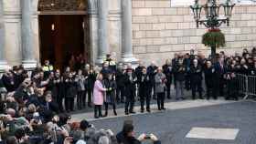
[(202, 37), (202, 43), (205, 46), (216, 46), (224, 47), (226, 46), (225, 35), (221, 33), (219, 29), (209, 29), (206, 34)]

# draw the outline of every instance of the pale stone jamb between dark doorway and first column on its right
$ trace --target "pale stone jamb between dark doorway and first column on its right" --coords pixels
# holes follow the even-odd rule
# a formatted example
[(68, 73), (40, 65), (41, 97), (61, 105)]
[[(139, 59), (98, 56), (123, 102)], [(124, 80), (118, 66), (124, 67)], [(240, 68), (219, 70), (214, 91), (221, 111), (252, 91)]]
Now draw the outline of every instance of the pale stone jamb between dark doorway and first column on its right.
[(90, 57), (91, 64), (95, 64), (98, 49), (98, 0), (88, 0), (89, 23), (90, 23)]

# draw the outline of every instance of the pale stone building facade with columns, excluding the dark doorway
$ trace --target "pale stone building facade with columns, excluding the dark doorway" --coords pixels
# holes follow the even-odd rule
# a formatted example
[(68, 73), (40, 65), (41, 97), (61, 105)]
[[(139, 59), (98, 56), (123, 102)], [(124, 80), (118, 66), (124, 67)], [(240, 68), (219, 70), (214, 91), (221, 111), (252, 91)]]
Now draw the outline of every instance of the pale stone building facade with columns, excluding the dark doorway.
[[(66, 3), (62, 5), (74, 1), (83, 9), (38, 9), (43, 1), (49, 7), (57, 1)], [(146, 64), (153, 60), (163, 63), (174, 53), (191, 48), (209, 54), (208, 47), (201, 44), (206, 28), (196, 27), (188, 5), (172, 5), (171, 0), (1, 0), (0, 69), (20, 64), (36, 67), (42, 60), (40, 15), (84, 15), (89, 27), (84, 30), (88, 34), (84, 48), (92, 64), (101, 63), (108, 53), (116, 54), (118, 61), (140, 59)], [(256, 46), (256, 5), (236, 5), (230, 26), (221, 30), (228, 43), (219, 50), (233, 54), (242, 47)]]

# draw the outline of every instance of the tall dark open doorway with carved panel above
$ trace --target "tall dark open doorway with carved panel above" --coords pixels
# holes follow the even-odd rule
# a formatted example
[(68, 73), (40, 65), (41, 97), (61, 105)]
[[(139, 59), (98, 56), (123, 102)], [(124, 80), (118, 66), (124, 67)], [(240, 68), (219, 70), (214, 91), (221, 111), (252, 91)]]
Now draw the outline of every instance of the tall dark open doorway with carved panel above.
[(69, 65), (72, 56), (90, 63), (90, 24), (85, 0), (39, 0), (40, 60), (57, 68)]

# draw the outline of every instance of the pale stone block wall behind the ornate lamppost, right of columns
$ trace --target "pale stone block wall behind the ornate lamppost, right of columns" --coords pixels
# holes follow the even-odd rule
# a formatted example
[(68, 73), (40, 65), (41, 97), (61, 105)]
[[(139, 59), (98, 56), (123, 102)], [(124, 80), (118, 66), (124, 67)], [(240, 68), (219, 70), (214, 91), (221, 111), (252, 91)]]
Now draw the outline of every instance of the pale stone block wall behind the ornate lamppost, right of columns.
[[(233, 54), (256, 46), (256, 5), (236, 5), (230, 26), (220, 28), (227, 46), (219, 50)], [(146, 64), (152, 60), (162, 64), (191, 48), (208, 55), (208, 47), (201, 44), (206, 31), (204, 26), (197, 28), (188, 6), (173, 7), (170, 0), (133, 0), (133, 53)]]

